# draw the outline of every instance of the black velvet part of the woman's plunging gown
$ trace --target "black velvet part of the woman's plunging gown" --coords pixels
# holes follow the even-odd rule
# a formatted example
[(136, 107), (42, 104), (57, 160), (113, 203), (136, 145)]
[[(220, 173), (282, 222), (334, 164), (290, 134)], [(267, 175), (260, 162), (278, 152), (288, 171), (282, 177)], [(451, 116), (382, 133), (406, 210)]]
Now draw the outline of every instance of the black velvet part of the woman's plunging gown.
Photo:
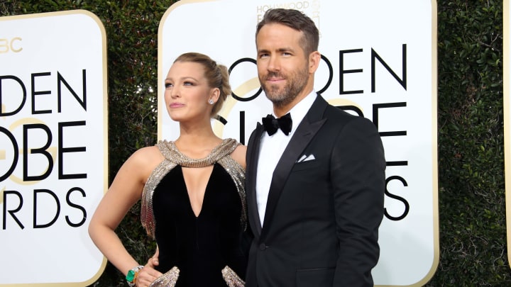
[(195, 216), (182, 167), (170, 169), (155, 185), (152, 197), (154, 236), (160, 250), (156, 269), (165, 273), (177, 266), (175, 286), (179, 287), (227, 286), (221, 273), (225, 266), (244, 278), (243, 199), (231, 174), (214, 163), (202, 210)]

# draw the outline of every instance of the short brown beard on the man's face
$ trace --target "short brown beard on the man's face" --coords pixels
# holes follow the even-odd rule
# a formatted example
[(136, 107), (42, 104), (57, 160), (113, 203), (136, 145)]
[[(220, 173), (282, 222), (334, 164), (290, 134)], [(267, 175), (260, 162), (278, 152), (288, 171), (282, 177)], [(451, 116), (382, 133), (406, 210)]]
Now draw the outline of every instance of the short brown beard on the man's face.
[[(269, 72), (264, 79), (269, 79), (271, 77), (282, 77), (282, 74), (278, 72)], [(287, 84), (283, 88), (271, 84), (262, 84), (261, 86), (265, 91), (266, 97), (272, 101), (274, 106), (284, 107), (294, 101), (298, 94), (303, 91), (304, 87), (307, 85), (308, 78), (309, 70), (306, 66), (304, 69), (290, 74), (289, 77), (285, 77)], [(261, 82), (266, 83), (266, 81)]]

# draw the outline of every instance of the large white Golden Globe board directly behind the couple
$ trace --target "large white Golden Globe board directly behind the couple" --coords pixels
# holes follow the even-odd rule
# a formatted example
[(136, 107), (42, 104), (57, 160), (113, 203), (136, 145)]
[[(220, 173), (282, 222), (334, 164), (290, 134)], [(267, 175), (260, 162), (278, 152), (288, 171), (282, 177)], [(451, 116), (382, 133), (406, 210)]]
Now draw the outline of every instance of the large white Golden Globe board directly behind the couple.
[(163, 101), (164, 79), (183, 52), (202, 52), (231, 70), (234, 94), (211, 123), (220, 137), (248, 142), (271, 113), (255, 66), (255, 26), (271, 8), (298, 9), (321, 33), (315, 89), (334, 106), (378, 126), (387, 159), (380, 286), (422, 286), (439, 261), (436, 156), (436, 1), (180, 1), (158, 36), (159, 137), (179, 126)]

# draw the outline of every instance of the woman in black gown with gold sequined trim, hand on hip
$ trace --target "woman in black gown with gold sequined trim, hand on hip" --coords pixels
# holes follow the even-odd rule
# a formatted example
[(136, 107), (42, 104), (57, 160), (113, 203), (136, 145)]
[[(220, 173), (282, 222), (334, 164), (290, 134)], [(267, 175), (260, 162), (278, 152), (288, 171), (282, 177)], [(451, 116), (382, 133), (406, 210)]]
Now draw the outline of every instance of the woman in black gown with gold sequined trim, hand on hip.
[[(128, 285), (243, 286), (246, 147), (217, 137), (210, 122), (229, 94), (226, 67), (206, 55), (185, 53), (170, 67), (165, 105), (180, 136), (134, 152), (89, 225)], [(114, 232), (138, 200), (142, 225), (158, 244), (156, 270), (138, 264)]]

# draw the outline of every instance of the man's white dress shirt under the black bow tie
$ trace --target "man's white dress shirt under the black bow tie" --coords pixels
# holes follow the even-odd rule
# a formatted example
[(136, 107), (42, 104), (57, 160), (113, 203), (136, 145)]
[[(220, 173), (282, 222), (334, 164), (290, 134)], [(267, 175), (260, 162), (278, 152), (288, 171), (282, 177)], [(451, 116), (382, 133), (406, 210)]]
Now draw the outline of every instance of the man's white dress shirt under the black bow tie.
[[(255, 196), (257, 197), (257, 205), (259, 212), (259, 219), (261, 226), (264, 223), (264, 216), (266, 211), (266, 203), (268, 201), (268, 193), (270, 191), (270, 184), (273, 177), (273, 171), (284, 153), (287, 144), (290, 142), (292, 135), (295, 134), (295, 130), (302, 123), (303, 118), (309, 111), (316, 100), (316, 91), (312, 91), (302, 101), (298, 102), (294, 107), (291, 108), (291, 119), (292, 128), (289, 135), (282, 133), (282, 130), (278, 129), (277, 133), (268, 135), (263, 133), (260, 139), (260, 150), (258, 157), (258, 169), (257, 178), (255, 181)], [(275, 114), (272, 112), (273, 116)]]

